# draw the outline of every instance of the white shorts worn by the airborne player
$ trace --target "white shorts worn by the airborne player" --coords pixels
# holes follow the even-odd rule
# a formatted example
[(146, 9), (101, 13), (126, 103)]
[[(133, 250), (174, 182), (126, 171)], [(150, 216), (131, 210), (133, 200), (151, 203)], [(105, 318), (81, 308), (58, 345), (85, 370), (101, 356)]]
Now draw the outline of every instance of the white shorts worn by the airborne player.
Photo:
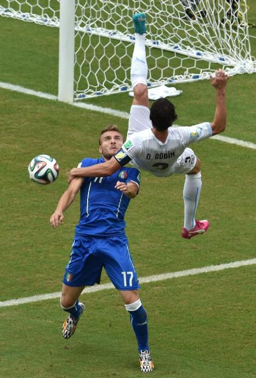
[[(152, 129), (150, 109), (142, 105), (132, 105), (126, 139), (129, 139), (129, 136), (133, 133), (137, 133), (145, 129)], [(178, 157), (176, 163), (172, 166), (166, 176), (171, 176), (178, 173), (189, 173), (191, 170), (193, 170), (196, 163), (197, 156), (193, 150), (187, 147)], [(161, 177), (163, 177), (162, 175), (163, 174), (161, 173)]]

